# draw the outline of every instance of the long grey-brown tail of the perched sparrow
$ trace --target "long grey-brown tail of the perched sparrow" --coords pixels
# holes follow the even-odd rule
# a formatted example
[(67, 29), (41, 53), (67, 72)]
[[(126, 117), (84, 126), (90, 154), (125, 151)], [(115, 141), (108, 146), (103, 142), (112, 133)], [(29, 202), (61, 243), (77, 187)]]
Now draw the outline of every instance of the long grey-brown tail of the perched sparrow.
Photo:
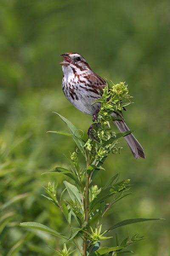
[[(118, 114), (113, 112), (112, 116), (118, 117)], [(113, 122), (115, 123), (120, 132), (130, 131), (124, 120), (115, 120)], [(134, 157), (136, 157), (137, 159), (139, 159), (139, 157), (146, 158), (142, 146), (140, 145), (139, 141), (136, 140), (135, 136), (132, 133), (126, 135), (124, 138), (129, 145)]]

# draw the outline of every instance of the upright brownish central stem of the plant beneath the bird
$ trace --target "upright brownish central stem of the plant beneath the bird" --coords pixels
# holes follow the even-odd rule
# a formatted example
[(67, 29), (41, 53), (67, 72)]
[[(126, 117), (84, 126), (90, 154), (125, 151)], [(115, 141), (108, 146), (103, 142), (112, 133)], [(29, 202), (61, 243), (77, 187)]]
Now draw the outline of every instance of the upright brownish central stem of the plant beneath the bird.
[[(85, 177), (85, 201), (84, 201), (84, 207), (85, 207), (85, 222), (87, 222), (87, 228), (88, 228), (88, 201), (89, 201), (89, 175), (88, 175), (88, 166), (90, 163), (90, 156), (88, 154), (87, 160), (86, 160), (86, 177)], [(86, 234), (85, 234), (86, 235)], [(83, 241), (83, 255), (86, 256), (87, 252), (87, 245), (86, 245), (87, 239), (84, 238)]]

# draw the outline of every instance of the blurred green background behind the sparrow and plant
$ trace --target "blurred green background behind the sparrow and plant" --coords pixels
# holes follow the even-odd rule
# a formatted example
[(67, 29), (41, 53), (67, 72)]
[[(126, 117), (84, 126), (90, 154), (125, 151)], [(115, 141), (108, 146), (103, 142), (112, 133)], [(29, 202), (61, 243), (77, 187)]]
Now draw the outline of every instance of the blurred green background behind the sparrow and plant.
[[(106, 172), (130, 178), (132, 195), (108, 213), (105, 227), (127, 218), (166, 218), (122, 227), (124, 239), (139, 232), (135, 256), (170, 255), (170, 2), (169, 0), (1, 0), (0, 1), (0, 256), (54, 255), (46, 247), (61, 239), (18, 226), (37, 221), (67, 233), (58, 209), (41, 196), (48, 181), (41, 175), (67, 167), (62, 154), (74, 151), (71, 138), (49, 134), (67, 131), (56, 111), (86, 134), (87, 116), (65, 98), (59, 54), (78, 52), (103, 78), (126, 81), (132, 104), (124, 113), (142, 144), (146, 159), (136, 160), (125, 141), (122, 154), (108, 157)], [(116, 131), (116, 128), (115, 128)], [(86, 137), (86, 136), (85, 136)], [(113, 239), (107, 245), (115, 245)]]

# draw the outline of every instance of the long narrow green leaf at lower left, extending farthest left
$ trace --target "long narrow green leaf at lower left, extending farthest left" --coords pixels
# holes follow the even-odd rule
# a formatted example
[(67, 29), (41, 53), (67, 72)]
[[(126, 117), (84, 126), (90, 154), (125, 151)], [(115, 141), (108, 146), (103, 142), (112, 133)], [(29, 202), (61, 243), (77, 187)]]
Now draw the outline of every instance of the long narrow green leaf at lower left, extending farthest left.
[(37, 229), (37, 230), (42, 230), (42, 231), (45, 231), (47, 233), (50, 233), (51, 235), (54, 235), (54, 236), (59, 236), (65, 240), (67, 240), (67, 237), (58, 233), (56, 230), (53, 230), (43, 224), (40, 224), (40, 223), (37, 223), (37, 222), (22, 222), (20, 223), (20, 226), (22, 227), (30, 227), (30, 228), (34, 228), (34, 229)]

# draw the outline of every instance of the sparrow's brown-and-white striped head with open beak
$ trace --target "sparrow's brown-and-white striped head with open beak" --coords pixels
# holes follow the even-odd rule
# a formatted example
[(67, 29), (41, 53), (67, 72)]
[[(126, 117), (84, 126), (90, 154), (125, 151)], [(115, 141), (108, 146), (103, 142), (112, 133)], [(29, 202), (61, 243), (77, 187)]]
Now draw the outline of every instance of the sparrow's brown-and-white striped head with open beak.
[(61, 54), (61, 56), (64, 58), (64, 60), (62, 62), (59, 62), (59, 64), (62, 65), (62, 70), (64, 73), (71, 70), (74, 73), (91, 70), (85, 58), (83, 58), (82, 55), (78, 53), (67, 52), (65, 54)]

